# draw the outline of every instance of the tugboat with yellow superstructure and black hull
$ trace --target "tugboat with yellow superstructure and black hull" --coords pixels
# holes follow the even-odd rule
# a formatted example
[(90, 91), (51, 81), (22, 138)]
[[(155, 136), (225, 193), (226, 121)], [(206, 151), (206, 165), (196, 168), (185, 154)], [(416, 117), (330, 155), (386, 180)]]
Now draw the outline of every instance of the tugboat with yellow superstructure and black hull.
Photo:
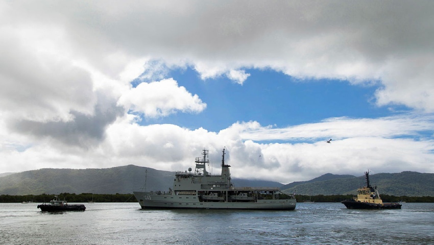
[(372, 187), (369, 182), (369, 170), (365, 172), (366, 186), (357, 189), (357, 197), (341, 203), (349, 209), (400, 209), (399, 203), (383, 203), (378, 194), (377, 186)]

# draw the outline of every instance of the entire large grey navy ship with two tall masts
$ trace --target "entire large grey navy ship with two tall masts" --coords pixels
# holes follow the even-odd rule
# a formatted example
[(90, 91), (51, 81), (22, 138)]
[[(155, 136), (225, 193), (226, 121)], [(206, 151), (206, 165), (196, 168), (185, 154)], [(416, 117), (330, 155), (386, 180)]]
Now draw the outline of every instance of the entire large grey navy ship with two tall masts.
[(134, 191), (142, 209), (257, 209), (294, 210), (297, 201), (293, 195), (277, 187), (235, 187), (231, 183), (229, 167), (222, 154), (222, 173), (206, 170), (208, 150), (196, 158), (196, 168), (191, 173), (178, 171), (173, 188), (168, 191)]

